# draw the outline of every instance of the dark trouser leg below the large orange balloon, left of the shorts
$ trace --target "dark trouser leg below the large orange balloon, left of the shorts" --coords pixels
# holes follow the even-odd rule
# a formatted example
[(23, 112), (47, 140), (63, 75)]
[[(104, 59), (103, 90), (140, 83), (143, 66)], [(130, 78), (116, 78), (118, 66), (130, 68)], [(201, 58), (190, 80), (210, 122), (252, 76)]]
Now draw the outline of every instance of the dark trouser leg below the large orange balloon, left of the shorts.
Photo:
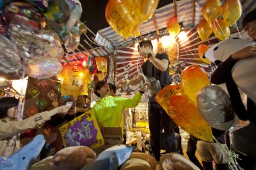
[(189, 160), (197, 165), (199, 169), (203, 170), (203, 166), (199, 163), (197, 157), (195, 157), (195, 151), (197, 151), (197, 138), (190, 135), (187, 141), (187, 157), (189, 157)]

